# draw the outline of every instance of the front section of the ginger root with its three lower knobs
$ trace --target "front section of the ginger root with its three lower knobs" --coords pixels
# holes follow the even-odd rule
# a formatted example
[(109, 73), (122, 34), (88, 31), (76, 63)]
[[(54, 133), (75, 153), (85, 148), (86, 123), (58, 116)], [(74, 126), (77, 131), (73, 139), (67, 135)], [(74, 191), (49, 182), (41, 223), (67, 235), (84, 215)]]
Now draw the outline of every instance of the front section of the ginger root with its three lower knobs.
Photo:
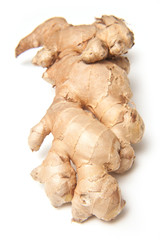
[[(31, 175), (44, 184), (53, 206), (72, 201), (73, 220), (78, 222), (92, 215), (105, 221), (115, 218), (125, 204), (117, 181), (108, 174), (121, 165), (116, 136), (82, 106), (63, 98), (56, 98), (32, 128), (32, 151), (39, 149), (50, 132), (54, 135), (51, 150)], [(77, 185), (69, 160), (77, 169)]]

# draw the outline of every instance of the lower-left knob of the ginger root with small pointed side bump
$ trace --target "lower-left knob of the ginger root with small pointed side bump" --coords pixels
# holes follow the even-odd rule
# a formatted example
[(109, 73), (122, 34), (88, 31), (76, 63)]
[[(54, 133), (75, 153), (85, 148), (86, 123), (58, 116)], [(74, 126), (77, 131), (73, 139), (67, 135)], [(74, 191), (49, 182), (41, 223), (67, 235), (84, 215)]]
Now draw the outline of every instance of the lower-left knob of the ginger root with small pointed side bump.
[(69, 158), (63, 150), (56, 149), (54, 141), (46, 159), (31, 172), (31, 176), (44, 184), (46, 194), (54, 207), (71, 202), (76, 186), (76, 174)]

